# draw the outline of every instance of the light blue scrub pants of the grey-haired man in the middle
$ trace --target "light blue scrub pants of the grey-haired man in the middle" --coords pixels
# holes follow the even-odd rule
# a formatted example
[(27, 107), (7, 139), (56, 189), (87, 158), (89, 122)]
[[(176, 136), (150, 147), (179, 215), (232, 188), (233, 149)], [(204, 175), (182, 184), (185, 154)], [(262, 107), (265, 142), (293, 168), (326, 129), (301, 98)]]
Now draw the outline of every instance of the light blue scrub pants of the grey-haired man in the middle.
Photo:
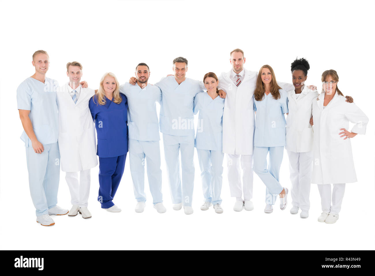
[(184, 206), (191, 206), (194, 188), (194, 135), (178, 136), (163, 133), (163, 144), (172, 203), (182, 202)]

